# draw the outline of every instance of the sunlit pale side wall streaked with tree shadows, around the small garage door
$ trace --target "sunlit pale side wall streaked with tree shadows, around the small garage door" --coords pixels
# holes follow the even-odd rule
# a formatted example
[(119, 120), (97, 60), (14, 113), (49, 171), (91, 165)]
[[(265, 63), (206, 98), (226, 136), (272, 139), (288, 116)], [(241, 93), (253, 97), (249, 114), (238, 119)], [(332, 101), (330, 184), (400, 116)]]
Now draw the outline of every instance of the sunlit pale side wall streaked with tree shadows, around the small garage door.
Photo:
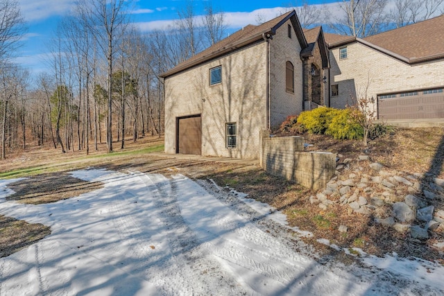
[[(209, 85), (222, 66), (222, 82)], [(176, 153), (176, 119), (201, 114), (202, 155), (257, 158), (266, 128), (266, 42), (250, 45), (165, 80), (165, 152)], [(237, 148), (225, 148), (225, 123), (237, 123)]]

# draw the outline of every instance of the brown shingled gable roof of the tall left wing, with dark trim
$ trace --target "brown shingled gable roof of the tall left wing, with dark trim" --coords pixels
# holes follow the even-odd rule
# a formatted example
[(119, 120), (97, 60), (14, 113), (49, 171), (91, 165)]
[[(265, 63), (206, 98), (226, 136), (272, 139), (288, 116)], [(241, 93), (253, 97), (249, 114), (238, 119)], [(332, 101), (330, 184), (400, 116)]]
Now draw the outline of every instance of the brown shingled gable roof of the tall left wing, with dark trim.
[(248, 25), (244, 28), (241, 28), (241, 30), (233, 33), (220, 42), (213, 44), (204, 51), (201, 51), (188, 60), (181, 62), (176, 67), (173, 67), (173, 69), (162, 73), (160, 77), (165, 78), (167, 76), (171, 76), (190, 67), (194, 67), (197, 64), (212, 60), (213, 58), (217, 58), (221, 55), (224, 55), (225, 53), (229, 53), (230, 51), (239, 49), (242, 46), (257, 42), (258, 40), (264, 38), (272, 39), (273, 35), (275, 35), (276, 33), (276, 30), (289, 19), (291, 20), (293, 30), (298, 37), (300, 46), (302, 47), (302, 49), (305, 49), (307, 47), (307, 40), (305, 40), (304, 33), (302, 33), (302, 28), (300, 26), (298, 17), (296, 16), (296, 11), (293, 10), (284, 13), (284, 15), (280, 15), (279, 17), (275, 17), (270, 21), (266, 21), (264, 24), (261, 24), (259, 26)]

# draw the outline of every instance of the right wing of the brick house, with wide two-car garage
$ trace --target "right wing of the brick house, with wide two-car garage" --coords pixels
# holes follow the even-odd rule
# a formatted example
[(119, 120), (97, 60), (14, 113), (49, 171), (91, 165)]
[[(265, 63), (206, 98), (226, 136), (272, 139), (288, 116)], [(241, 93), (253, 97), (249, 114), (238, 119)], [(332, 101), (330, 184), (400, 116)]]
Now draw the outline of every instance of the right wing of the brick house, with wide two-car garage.
[(325, 39), (331, 107), (368, 98), (378, 119), (444, 118), (444, 15), (364, 39)]

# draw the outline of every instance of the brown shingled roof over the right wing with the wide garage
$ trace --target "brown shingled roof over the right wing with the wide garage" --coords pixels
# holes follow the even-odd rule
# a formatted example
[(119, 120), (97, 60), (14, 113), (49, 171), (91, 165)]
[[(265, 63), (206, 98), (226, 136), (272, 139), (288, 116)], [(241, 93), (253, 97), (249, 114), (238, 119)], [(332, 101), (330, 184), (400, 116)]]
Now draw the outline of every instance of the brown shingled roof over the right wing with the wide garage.
[(444, 15), (365, 37), (325, 34), (330, 49), (359, 42), (393, 58), (414, 64), (444, 58)]

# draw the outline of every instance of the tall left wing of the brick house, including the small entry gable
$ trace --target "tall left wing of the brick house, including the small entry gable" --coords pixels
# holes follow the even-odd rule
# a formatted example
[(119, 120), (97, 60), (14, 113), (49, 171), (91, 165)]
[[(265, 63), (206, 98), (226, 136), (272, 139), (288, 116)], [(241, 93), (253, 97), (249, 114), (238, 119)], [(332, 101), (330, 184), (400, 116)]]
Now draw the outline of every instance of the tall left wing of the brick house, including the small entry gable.
[(162, 74), (165, 152), (257, 158), (261, 130), (302, 112), (305, 96), (323, 103), (328, 64), (322, 30), (307, 42), (294, 10), (242, 28)]

